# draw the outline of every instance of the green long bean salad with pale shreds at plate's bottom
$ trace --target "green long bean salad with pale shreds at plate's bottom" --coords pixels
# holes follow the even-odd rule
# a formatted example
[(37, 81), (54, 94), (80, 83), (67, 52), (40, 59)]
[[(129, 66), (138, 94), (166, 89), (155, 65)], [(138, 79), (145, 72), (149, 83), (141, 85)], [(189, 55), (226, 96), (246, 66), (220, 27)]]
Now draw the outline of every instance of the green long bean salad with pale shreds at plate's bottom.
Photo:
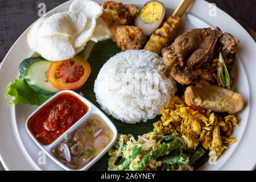
[(109, 151), (108, 170), (192, 171), (192, 164), (205, 154), (203, 147), (188, 150), (180, 134), (160, 135), (150, 132), (138, 136), (119, 134)]

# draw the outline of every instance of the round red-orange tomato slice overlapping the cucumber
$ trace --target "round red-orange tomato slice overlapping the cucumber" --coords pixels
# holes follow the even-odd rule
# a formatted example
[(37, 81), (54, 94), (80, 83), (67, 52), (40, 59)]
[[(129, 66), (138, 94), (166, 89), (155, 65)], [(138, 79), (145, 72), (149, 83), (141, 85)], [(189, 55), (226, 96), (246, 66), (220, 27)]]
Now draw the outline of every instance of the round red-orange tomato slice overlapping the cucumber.
[(89, 63), (79, 56), (63, 61), (52, 61), (47, 71), (49, 82), (57, 89), (81, 88), (90, 75)]

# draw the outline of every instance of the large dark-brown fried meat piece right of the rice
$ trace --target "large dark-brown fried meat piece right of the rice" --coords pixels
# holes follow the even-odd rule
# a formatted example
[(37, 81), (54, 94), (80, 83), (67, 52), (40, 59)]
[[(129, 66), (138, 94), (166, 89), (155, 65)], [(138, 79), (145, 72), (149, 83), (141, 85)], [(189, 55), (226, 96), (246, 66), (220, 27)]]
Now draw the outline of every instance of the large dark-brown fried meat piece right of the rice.
[(236, 52), (238, 39), (222, 33), (220, 28), (198, 28), (178, 36), (171, 46), (162, 49), (166, 66), (159, 69), (163, 78), (170, 76), (180, 84), (194, 84), (201, 73), (221, 51), (229, 56)]

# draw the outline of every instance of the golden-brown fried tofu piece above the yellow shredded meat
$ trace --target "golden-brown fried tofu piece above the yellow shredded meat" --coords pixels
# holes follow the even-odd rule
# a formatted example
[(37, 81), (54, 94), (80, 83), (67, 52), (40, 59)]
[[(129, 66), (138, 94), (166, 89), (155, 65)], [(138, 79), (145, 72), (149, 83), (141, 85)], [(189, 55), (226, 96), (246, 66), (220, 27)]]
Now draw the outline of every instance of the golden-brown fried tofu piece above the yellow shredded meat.
[(185, 90), (185, 102), (188, 106), (219, 113), (234, 114), (243, 109), (241, 94), (212, 85), (203, 79), (196, 86), (189, 86)]

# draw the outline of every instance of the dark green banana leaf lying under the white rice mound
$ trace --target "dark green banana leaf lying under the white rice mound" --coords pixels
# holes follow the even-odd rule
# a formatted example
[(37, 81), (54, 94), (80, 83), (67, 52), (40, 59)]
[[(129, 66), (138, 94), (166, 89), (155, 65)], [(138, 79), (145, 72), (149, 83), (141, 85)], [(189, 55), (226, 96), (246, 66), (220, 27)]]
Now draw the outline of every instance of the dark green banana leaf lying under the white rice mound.
[[(101, 109), (101, 107), (96, 102), (95, 93), (93, 92), (94, 81), (96, 80), (98, 72), (100, 72), (101, 67), (106, 63), (106, 61), (109, 60), (110, 57), (114, 56), (118, 52), (121, 52), (121, 49), (117, 46), (117, 44), (115, 44), (112, 41), (112, 39), (105, 40), (95, 44), (92, 51), (90, 52), (89, 59), (87, 60), (91, 67), (91, 73), (84, 86), (77, 90), (77, 92), (81, 92), (82, 94), (84, 94), (84, 97), (87, 98), (94, 105), (96, 105), (99, 109)], [(107, 116), (114, 123), (115, 127), (117, 127), (118, 133), (132, 134), (134, 135), (135, 138), (137, 138), (138, 135), (143, 135), (145, 133), (152, 131), (154, 129), (152, 124), (160, 120), (160, 116), (157, 116), (156, 118), (148, 120), (147, 122), (140, 122), (133, 125), (129, 125), (126, 123), (122, 123), (117, 119), (114, 119), (110, 115)], [(94, 164), (92, 168), (90, 168), (90, 170), (108, 169), (109, 157), (110, 156), (107, 152), (96, 164)]]

